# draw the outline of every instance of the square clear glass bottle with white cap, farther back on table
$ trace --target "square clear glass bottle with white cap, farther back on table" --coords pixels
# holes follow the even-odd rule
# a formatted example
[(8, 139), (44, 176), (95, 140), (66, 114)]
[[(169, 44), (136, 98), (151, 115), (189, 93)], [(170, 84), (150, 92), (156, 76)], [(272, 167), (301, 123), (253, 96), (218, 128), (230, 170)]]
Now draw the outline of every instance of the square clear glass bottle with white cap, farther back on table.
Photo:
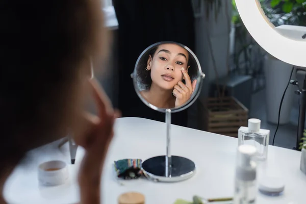
[(268, 156), (270, 131), (260, 128), (261, 120), (251, 118), (247, 127), (238, 130), (238, 145), (249, 144), (257, 149), (256, 158), (265, 160)]

